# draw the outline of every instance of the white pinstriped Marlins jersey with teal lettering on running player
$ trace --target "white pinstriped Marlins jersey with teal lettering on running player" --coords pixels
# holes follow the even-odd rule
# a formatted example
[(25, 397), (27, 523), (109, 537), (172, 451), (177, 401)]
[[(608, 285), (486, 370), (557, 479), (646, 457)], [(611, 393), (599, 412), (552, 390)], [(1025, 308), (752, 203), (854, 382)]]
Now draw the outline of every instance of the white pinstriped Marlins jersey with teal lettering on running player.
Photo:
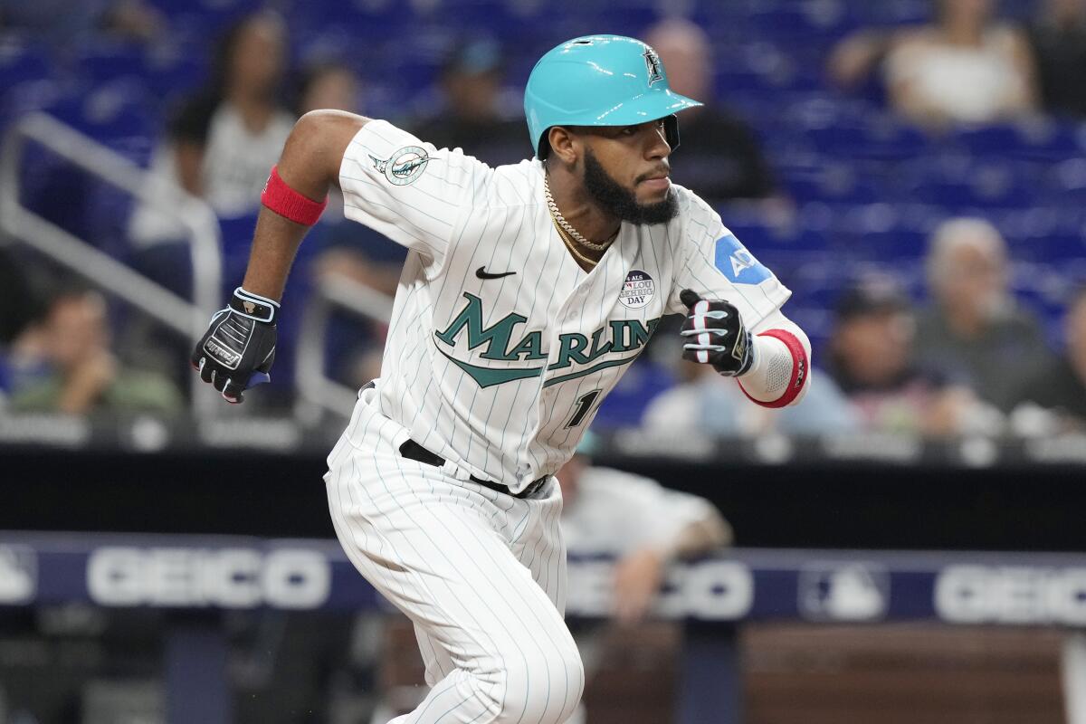
[(728, 300), (748, 328), (791, 294), (680, 186), (674, 219), (623, 223), (585, 272), (551, 220), (538, 160), (490, 168), (370, 120), (340, 185), (349, 218), (411, 250), (377, 411), (514, 492), (572, 455), (659, 318), (685, 313), (684, 288)]

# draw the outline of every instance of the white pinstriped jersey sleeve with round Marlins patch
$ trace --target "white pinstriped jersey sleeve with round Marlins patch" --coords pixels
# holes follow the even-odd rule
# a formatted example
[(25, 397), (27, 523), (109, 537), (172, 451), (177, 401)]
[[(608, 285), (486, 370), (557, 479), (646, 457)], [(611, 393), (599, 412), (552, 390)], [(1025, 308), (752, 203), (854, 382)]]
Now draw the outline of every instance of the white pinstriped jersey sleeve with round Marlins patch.
[(440, 265), (453, 228), (491, 174), (459, 149), (438, 150), (386, 120), (370, 120), (340, 165), (343, 213)]

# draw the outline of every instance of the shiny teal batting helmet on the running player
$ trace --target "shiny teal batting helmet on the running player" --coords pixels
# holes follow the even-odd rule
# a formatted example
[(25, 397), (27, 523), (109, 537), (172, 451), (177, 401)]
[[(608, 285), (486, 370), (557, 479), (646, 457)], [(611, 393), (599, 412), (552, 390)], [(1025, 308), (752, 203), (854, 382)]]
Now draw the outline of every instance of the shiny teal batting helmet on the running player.
[(683, 109), (702, 105), (668, 86), (656, 51), (635, 38), (586, 35), (567, 40), (535, 63), (525, 87), (532, 149), (545, 158), (552, 126), (632, 126), (667, 119), (671, 149), (679, 145)]

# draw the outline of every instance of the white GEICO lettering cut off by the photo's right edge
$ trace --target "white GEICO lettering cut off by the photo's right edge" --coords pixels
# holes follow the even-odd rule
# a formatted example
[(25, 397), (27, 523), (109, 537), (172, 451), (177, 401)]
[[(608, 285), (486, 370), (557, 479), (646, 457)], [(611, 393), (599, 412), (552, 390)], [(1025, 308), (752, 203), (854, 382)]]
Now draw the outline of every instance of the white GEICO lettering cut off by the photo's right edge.
[(954, 623), (1086, 624), (1086, 568), (950, 566), (935, 610)]

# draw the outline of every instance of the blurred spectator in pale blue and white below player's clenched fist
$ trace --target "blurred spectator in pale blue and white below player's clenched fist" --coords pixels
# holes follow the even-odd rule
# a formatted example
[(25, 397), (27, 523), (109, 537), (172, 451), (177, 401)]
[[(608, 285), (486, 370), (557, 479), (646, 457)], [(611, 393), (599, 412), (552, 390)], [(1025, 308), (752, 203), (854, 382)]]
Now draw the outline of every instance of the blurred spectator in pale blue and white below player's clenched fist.
[(648, 403), (642, 427), (661, 435), (754, 436), (769, 432), (817, 435), (854, 432), (860, 419), (834, 381), (815, 371), (803, 404), (782, 409), (755, 405), (732, 378), (711, 367), (680, 360), (682, 380)]

